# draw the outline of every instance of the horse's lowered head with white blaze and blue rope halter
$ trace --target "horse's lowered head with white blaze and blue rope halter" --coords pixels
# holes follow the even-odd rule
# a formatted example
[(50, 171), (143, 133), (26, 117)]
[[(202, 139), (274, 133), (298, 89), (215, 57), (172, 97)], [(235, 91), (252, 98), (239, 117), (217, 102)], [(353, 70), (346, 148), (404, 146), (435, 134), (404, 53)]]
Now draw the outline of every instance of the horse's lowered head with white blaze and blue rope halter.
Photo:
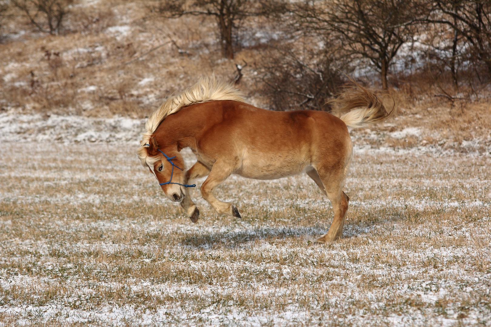
[(174, 202), (180, 202), (184, 199), (186, 191), (184, 159), (177, 151), (177, 148), (166, 147), (159, 149), (157, 140), (150, 137), (146, 148), (147, 157), (146, 165), (150, 172), (157, 177), (162, 190), (167, 198)]

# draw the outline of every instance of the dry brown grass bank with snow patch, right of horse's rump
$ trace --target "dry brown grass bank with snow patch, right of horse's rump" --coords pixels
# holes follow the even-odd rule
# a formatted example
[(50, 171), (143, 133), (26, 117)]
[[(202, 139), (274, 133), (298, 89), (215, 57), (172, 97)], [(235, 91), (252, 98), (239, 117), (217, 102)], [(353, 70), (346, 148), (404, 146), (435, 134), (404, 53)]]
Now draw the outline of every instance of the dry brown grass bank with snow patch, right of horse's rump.
[[(451, 151), (491, 153), (491, 105), (487, 99), (451, 106), (441, 99), (412, 101), (402, 92), (390, 93), (386, 106), (395, 100), (395, 115), (351, 134), (358, 145), (414, 148), (438, 147)], [(412, 129), (408, 134), (405, 130)], [(402, 134), (397, 135), (402, 132)]]

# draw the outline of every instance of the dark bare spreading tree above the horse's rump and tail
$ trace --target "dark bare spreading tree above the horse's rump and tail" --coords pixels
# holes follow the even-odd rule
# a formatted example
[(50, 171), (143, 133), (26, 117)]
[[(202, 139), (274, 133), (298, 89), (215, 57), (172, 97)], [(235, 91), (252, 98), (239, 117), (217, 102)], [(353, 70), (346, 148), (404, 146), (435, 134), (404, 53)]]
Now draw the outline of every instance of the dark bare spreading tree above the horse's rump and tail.
[(347, 54), (368, 59), (380, 72), (387, 89), (387, 73), (401, 46), (413, 40), (420, 7), (411, 0), (305, 1), (292, 13), (300, 29), (336, 34)]

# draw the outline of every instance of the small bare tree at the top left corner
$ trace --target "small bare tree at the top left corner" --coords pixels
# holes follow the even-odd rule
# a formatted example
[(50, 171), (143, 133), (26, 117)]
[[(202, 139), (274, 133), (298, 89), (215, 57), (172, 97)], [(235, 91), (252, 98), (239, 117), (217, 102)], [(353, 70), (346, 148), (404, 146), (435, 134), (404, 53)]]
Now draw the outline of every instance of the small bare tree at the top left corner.
[(40, 31), (59, 34), (61, 23), (68, 14), (68, 5), (73, 0), (12, 0), (12, 3), (29, 19), (30, 23)]

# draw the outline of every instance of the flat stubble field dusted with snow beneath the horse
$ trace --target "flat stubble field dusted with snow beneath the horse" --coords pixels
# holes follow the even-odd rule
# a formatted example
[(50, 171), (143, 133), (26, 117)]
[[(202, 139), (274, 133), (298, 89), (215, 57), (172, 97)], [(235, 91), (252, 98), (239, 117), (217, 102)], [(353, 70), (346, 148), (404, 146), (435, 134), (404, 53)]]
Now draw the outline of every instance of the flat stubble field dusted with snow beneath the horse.
[(143, 125), (0, 115), (0, 325), (491, 326), (488, 152), (358, 145), (320, 246), (306, 175), (230, 177), (242, 220), (192, 191), (192, 224), (136, 159)]

